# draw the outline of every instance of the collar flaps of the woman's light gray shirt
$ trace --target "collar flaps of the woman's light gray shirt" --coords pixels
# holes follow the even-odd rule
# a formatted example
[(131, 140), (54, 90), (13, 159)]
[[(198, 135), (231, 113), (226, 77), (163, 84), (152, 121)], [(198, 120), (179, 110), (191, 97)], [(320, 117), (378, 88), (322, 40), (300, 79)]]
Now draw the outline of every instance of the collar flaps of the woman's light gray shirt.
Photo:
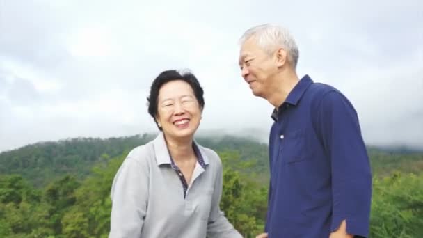
[[(162, 164), (170, 164), (173, 166), (175, 164), (173, 159), (170, 157), (163, 132), (160, 132), (159, 135), (157, 135), (153, 141), (153, 145), (154, 153), (156, 154), (157, 166), (161, 166)], [(198, 143), (195, 140), (193, 141), (193, 150), (195, 156), (197, 157), (198, 164), (205, 168), (205, 166), (209, 164), (209, 158), (205, 154), (204, 149), (198, 146)]]

